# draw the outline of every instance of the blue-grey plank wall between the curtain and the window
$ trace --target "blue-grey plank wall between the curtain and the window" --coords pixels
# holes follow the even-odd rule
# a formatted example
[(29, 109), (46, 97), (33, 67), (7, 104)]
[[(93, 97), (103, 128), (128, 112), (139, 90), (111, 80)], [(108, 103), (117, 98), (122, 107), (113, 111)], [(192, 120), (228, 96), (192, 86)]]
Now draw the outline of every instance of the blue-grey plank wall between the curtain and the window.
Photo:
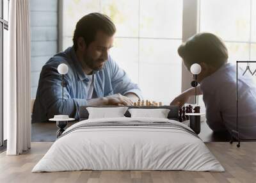
[(58, 49), (58, 0), (30, 0), (31, 99), (36, 97), (40, 71)]

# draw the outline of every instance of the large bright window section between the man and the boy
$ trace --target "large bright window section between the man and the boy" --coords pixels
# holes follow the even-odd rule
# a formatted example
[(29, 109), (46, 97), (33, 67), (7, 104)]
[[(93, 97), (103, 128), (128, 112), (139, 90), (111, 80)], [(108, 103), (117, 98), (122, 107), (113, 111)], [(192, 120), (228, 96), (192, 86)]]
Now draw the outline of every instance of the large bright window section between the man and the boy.
[(182, 1), (63, 1), (64, 50), (72, 46), (76, 22), (101, 12), (116, 25), (111, 56), (138, 83), (144, 99), (169, 104), (181, 92)]

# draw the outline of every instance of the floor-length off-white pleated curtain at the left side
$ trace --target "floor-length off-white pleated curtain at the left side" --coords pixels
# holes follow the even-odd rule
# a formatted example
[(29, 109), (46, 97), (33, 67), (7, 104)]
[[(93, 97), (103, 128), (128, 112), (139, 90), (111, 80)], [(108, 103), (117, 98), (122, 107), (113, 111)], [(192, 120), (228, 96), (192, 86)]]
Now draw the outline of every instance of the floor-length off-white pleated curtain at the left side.
[(10, 1), (8, 61), (4, 63), (4, 120), (8, 155), (31, 145), (29, 0)]

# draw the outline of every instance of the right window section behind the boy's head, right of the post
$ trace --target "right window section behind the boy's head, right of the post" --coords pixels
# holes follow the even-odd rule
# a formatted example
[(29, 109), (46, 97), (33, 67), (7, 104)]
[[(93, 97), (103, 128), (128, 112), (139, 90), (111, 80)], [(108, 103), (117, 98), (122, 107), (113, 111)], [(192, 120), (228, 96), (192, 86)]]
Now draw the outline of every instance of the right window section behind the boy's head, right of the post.
[[(230, 63), (256, 60), (255, 20), (253, 0), (200, 1), (200, 31), (209, 31), (223, 39)], [(239, 66), (245, 69), (246, 64)], [(255, 70), (256, 65), (252, 67)]]

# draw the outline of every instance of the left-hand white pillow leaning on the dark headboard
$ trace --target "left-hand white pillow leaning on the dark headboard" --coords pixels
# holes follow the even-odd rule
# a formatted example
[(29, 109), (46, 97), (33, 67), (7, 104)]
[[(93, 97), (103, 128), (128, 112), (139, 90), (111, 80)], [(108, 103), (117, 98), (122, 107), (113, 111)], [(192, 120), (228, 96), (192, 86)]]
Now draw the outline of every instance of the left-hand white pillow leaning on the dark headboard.
[(125, 117), (124, 114), (128, 107), (86, 107), (89, 119), (95, 118), (119, 118)]

